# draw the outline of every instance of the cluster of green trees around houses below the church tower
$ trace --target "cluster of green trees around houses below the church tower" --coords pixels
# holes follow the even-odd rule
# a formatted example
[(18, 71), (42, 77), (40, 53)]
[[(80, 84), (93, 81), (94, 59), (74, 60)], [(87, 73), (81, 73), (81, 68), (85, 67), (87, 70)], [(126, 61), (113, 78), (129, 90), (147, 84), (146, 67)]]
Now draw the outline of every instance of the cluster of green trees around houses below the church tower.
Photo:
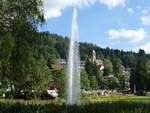
[(86, 61), (85, 70), (89, 76), (91, 89), (128, 89), (129, 77), (123, 73), (121, 60), (114, 58), (113, 65), (108, 59), (104, 59), (103, 62), (104, 70), (100, 70), (95, 63)]

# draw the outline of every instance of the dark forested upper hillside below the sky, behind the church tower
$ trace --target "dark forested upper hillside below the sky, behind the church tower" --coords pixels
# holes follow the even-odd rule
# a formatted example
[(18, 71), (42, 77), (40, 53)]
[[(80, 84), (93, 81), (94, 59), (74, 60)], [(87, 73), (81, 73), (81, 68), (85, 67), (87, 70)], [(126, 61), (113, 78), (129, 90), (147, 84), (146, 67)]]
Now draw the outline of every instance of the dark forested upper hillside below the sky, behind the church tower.
[[(56, 58), (67, 59), (69, 38), (50, 34), (48, 32), (40, 33), (40, 47), (45, 56), (53, 55)], [(97, 53), (98, 59), (110, 59), (118, 57), (125, 67), (134, 67), (138, 59), (138, 54), (132, 51), (125, 52), (118, 49), (101, 48), (91, 43), (80, 43), (81, 60), (86, 60), (90, 57), (92, 50)], [(150, 59), (150, 55), (146, 55)]]

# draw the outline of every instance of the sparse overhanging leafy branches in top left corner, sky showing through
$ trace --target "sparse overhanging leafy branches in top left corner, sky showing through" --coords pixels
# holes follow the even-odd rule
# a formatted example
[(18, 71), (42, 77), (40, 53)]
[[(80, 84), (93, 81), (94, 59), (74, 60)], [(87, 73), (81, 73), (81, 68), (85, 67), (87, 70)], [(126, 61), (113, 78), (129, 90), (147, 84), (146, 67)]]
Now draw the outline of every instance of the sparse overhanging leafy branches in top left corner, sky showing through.
[(0, 28), (13, 29), (19, 21), (38, 23), (44, 21), (41, 0), (1, 0)]

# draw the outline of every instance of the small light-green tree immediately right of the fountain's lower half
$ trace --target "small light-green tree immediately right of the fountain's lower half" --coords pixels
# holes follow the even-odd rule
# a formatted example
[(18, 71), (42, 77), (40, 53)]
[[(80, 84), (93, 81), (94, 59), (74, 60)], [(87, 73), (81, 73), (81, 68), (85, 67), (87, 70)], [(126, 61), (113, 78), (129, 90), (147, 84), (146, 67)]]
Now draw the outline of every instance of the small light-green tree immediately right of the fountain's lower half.
[(86, 90), (90, 89), (90, 80), (84, 69), (81, 70), (81, 88)]

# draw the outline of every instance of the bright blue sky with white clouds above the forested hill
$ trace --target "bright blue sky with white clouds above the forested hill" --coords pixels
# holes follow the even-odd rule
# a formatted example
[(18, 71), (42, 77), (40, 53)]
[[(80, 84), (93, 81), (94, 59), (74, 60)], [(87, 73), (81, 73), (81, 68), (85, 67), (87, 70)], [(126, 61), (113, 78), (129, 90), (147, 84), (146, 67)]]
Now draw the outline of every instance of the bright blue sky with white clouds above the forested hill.
[(74, 7), (79, 41), (150, 53), (150, 0), (44, 0), (46, 23), (39, 30), (69, 37)]

